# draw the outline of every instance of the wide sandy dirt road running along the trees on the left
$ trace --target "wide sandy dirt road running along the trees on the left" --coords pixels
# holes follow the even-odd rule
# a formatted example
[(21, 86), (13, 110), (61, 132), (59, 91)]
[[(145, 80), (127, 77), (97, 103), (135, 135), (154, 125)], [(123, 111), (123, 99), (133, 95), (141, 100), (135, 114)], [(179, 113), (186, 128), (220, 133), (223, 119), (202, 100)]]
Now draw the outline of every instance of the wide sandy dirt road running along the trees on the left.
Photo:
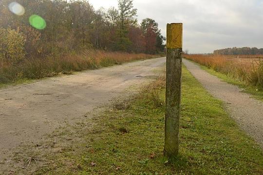
[(152, 70), (165, 61), (137, 61), (0, 89), (0, 165), (20, 144), (36, 144), (64, 123), (74, 123), (94, 107), (126, 95), (125, 89), (156, 76)]

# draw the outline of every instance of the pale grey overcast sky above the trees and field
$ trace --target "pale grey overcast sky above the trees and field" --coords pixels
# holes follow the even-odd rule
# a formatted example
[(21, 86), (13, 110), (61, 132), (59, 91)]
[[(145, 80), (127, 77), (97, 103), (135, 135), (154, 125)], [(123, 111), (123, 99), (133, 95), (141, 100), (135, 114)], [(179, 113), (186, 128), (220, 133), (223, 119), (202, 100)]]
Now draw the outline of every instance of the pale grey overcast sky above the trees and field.
[[(89, 0), (95, 9), (117, 7), (117, 0)], [(211, 53), (227, 47), (263, 48), (263, 0), (134, 0), (139, 22), (153, 18), (184, 23), (183, 50)]]

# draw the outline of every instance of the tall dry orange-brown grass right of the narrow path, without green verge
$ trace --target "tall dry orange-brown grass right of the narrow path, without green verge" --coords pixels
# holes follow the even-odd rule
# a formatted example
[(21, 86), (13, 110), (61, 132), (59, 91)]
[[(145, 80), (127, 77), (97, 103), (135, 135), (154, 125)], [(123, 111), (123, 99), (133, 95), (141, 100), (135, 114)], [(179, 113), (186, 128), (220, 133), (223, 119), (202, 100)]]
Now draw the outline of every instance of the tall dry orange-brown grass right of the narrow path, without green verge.
[(185, 58), (263, 88), (263, 55), (185, 54)]

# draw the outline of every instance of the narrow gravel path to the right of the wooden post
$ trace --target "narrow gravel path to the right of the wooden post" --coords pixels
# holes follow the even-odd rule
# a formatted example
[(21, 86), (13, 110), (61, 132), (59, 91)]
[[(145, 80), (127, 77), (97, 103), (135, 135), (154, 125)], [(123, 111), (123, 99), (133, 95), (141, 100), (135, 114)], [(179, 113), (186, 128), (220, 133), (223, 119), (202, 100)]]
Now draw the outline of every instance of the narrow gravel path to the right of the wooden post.
[(230, 115), (263, 147), (263, 103), (241, 92), (237, 86), (222, 82), (186, 59), (184, 65), (216, 98), (225, 102)]

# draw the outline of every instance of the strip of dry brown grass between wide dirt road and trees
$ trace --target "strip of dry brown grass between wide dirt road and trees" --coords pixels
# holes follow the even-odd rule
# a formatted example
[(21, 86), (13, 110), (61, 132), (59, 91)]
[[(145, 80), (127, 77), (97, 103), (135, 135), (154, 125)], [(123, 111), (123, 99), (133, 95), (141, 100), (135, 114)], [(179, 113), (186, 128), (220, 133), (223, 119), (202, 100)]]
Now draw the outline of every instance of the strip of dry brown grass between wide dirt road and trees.
[(25, 58), (17, 64), (0, 62), (0, 83), (19, 79), (38, 79), (73, 71), (97, 69), (133, 60), (149, 59), (153, 55), (86, 50), (78, 54), (61, 54), (46, 58)]

